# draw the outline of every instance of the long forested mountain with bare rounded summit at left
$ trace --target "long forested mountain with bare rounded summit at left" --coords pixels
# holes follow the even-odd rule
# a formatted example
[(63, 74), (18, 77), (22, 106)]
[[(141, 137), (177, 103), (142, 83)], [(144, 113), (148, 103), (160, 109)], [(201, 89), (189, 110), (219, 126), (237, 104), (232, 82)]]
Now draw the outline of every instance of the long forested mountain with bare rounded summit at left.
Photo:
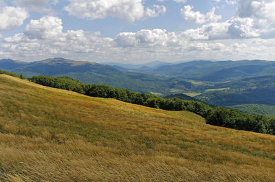
[[(0, 67), (0, 69), (4, 69)], [(111, 87), (129, 89), (157, 95), (168, 95), (174, 91), (188, 91), (192, 83), (179, 78), (151, 76), (146, 73), (120, 71), (109, 65), (95, 62), (52, 58), (37, 62), (30, 62), (11, 70), (14, 73), (32, 76), (69, 76), (84, 83), (107, 84)]]

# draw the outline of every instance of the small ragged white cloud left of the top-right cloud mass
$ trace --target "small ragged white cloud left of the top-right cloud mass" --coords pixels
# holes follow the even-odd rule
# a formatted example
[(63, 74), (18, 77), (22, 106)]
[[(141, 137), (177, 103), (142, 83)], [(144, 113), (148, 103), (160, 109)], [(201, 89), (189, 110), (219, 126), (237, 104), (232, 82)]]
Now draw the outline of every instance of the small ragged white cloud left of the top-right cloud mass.
[(190, 5), (186, 5), (184, 8), (181, 8), (181, 16), (184, 17), (186, 21), (202, 24), (210, 21), (218, 21), (221, 19), (221, 15), (214, 14), (215, 8), (212, 8), (212, 10), (206, 14), (202, 14), (201, 12), (194, 12), (192, 11), (193, 8), (194, 7)]

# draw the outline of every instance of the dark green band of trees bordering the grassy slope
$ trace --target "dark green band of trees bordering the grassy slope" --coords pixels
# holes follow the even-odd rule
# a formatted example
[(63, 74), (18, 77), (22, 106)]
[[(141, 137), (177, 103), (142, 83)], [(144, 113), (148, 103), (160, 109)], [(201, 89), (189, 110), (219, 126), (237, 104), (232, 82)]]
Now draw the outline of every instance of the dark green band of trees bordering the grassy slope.
[(212, 108), (198, 101), (159, 98), (155, 95), (115, 89), (105, 85), (83, 84), (69, 77), (34, 76), (29, 80), (47, 87), (76, 91), (92, 97), (114, 98), (168, 111), (191, 111), (205, 117), (208, 124), (275, 135), (275, 117), (245, 114), (223, 107)]

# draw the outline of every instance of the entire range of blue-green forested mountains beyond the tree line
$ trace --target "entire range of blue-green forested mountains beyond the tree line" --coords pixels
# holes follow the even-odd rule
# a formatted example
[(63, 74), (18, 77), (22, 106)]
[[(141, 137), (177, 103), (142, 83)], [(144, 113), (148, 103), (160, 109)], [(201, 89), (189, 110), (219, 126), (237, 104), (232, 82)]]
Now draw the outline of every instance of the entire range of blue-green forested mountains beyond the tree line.
[(247, 104), (259, 104), (257, 108), (261, 104), (275, 106), (275, 62), (272, 61), (195, 60), (180, 63), (155, 61), (143, 65), (109, 64), (65, 58), (30, 63), (3, 59), (0, 60), (0, 69), (21, 73), (25, 77), (69, 76), (84, 83), (201, 100), (216, 106), (238, 105), (241, 108), (246, 104), (245, 111), (248, 111)]

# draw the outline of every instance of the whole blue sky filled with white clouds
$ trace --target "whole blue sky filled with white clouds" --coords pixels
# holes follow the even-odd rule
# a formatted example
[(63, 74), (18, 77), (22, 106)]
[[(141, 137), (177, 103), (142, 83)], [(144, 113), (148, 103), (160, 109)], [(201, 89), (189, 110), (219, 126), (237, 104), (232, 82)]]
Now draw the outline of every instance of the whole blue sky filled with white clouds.
[(0, 58), (275, 60), (275, 0), (0, 0)]

